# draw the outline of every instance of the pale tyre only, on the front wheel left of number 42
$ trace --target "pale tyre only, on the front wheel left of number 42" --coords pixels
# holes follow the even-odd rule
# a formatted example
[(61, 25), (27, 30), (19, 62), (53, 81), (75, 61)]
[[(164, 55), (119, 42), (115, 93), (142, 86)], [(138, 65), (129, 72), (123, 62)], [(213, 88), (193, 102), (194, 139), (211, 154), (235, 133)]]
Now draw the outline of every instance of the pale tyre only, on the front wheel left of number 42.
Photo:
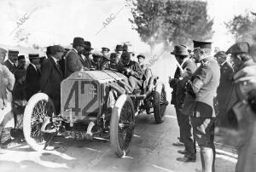
[(32, 147), (35, 151), (43, 151), (44, 145), (38, 144), (32, 137), (31, 137), (31, 118), (32, 118), (32, 112), (34, 107), (37, 105), (37, 103), (40, 100), (45, 100), (49, 103), (49, 106), (52, 106), (53, 112), (55, 113), (55, 106), (53, 104), (53, 101), (49, 98), (48, 95), (44, 93), (37, 93), (33, 95), (30, 100), (28, 100), (25, 111), (24, 111), (24, 117), (23, 117), (23, 135), (25, 137), (27, 145)]

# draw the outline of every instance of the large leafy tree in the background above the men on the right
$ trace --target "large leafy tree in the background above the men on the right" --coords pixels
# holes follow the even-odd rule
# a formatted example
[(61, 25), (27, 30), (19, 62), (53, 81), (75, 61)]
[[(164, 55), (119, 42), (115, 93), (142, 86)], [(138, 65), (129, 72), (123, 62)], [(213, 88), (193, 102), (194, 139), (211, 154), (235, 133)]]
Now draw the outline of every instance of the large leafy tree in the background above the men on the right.
[(192, 39), (212, 37), (213, 20), (207, 3), (183, 0), (126, 0), (131, 4), (130, 19), (142, 41), (154, 48), (156, 43), (190, 44)]

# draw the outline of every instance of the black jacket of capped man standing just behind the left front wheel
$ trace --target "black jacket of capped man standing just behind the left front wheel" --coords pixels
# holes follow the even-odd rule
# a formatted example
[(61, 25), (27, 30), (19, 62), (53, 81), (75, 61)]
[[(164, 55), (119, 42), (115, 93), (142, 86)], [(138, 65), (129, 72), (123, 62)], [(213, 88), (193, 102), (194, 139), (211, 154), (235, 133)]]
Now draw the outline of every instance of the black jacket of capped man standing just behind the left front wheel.
[(25, 90), (26, 100), (29, 100), (32, 95), (35, 95), (40, 90), (41, 73), (29, 64), (26, 68)]

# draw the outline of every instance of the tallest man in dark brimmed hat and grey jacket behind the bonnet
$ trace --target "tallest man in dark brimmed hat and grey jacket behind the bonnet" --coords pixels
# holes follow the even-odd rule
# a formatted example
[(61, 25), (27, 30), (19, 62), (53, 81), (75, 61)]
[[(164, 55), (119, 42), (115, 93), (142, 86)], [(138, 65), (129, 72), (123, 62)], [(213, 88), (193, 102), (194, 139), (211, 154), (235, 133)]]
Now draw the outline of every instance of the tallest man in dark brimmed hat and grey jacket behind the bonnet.
[(67, 52), (65, 58), (65, 78), (84, 67), (84, 60), (81, 57), (84, 51), (84, 38), (74, 37), (72, 44), (73, 48)]

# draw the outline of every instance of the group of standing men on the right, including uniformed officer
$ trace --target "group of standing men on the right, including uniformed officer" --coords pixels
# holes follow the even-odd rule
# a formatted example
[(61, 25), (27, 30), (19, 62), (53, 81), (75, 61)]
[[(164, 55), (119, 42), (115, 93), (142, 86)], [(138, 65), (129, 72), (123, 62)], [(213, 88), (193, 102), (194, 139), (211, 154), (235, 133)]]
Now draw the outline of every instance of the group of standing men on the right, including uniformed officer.
[[(181, 162), (195, 162), (200, 147), (203, 172), (215, 171), (214, 133), (238, 150), (236, 171), (256, 171), (256, 63), (249, 43), (215, 52), (212, 43), (194, 41), (193, 53), (177, 45), (177, 70), (169, 78), (180, 129), (173, 146), (184, 146)], [(255, 57), (254, 57), (255, 58)], [(255, 60), (255, 59), (254, 59)], [(214, 132), (215, 131), (215, 132)]]

